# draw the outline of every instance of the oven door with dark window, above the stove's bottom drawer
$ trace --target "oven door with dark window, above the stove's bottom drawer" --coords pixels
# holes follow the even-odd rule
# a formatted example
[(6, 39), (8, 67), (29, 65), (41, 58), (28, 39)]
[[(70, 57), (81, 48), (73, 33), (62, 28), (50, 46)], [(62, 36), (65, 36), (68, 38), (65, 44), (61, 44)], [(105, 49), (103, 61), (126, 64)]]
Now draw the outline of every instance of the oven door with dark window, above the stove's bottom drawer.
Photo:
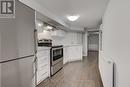
[(63, 61), (63, 47), (58, 48), (52, 48), (52, 65), (55, 65), (59, 63), (60, 61)]

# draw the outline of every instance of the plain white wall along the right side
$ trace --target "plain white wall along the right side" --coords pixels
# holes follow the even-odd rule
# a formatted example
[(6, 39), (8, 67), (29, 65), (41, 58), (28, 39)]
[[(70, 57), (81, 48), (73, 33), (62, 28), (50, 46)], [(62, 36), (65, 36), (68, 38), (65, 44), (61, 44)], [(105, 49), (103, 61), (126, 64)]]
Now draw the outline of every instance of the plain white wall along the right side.
[(103, 51), (115, 62), (115, 86), (130, 87), (130, 0), (110, 0), (103, 18)]

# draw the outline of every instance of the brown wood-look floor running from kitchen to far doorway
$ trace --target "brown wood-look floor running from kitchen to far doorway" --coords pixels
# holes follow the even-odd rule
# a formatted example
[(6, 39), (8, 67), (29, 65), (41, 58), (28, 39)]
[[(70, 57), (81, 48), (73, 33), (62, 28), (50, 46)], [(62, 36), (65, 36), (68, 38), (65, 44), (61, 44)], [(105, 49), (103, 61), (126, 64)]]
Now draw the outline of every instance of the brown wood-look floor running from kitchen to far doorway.
[(98, 70), (98, 52), (89, 52), (83, 61), (66, 64), (38, 87), (103, 87)]

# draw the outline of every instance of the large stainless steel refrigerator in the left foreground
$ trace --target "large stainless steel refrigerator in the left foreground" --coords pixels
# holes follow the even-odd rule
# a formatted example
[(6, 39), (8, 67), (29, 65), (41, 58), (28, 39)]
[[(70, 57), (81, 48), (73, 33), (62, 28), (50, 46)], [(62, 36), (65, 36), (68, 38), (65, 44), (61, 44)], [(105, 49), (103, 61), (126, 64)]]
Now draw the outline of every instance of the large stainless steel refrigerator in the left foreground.
[(35, 11), (15, 3), (15, 18), (0, 18), (0, 87), (35, 87)]

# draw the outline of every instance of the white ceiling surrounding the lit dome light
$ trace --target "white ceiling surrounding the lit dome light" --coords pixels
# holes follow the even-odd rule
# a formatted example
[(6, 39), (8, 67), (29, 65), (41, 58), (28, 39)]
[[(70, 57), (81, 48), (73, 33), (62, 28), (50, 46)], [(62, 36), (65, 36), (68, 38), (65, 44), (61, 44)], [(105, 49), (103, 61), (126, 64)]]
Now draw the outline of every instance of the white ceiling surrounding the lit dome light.
[[(96, 28), (101, 23), (108, 0), (37, 0), (48, 11), (69, 26)], [(67, 20), (68, 15), (80, 15), (75, 22)]]

